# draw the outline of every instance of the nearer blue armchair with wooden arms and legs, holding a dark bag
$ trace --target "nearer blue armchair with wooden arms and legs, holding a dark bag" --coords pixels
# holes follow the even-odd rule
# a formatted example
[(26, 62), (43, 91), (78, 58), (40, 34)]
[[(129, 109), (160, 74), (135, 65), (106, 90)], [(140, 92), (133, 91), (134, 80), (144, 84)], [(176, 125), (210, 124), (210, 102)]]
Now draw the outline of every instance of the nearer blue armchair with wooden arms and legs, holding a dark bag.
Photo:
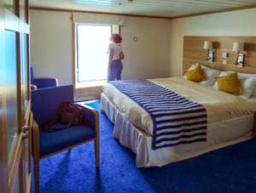
[[(34, 158), (34, 176), (36, 192), (39, 192), (39, 160), (72, 149), (90, 141), (95, 144), (96, 167), (99, 167), (99, 115), (90, 106), (84, 109), (84, 124), (71, 126), (57, 131), (45, 131), (40, 128), (52, 120), (63, 101), (73, 102), (73, 86), (42, 88), (32, 90), (32, 155)], [(56, 123), (58, 124), (58, 123)]]

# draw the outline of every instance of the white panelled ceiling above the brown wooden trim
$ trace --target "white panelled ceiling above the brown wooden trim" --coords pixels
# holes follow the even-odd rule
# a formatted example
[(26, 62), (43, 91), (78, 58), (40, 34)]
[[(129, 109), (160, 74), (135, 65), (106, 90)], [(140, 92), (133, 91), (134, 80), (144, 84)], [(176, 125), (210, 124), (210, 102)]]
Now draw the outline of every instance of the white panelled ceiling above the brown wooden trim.
[(173, 17), (256, 5), (256, 0), (30, 0), (32, 7)]

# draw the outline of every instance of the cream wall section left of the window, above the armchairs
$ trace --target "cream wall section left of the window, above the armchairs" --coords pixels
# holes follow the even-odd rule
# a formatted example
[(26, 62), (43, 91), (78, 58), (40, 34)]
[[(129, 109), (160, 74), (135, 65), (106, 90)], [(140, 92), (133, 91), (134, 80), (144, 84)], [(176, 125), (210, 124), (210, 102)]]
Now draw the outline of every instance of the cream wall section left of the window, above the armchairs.
[(58, 77), (73, 82), (70, 14), (31, 11), (31, 54), (35, 77)]

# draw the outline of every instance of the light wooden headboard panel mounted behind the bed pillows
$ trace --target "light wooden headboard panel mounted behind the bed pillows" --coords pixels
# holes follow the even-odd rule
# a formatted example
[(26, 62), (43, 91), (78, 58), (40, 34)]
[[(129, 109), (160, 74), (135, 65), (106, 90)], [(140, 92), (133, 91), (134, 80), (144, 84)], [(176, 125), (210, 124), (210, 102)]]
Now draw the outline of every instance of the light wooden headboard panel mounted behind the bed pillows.
[[(214, 48), (214, 62), (207, 62), (207, 50), (203, 49), (204, 41), (211, 41)], [(244, 43), (246, 54), (243, 68), (234, 65), (235, 52), (232, 52), (234, 42)], [(228, 65), (223, 65), (222, 53), (228, 52)], [(184, 37), (183, 38), (183, 71), (191, 64), (200, 63), (220, 71), (240, 71), (256, 73), (256, 37)]]

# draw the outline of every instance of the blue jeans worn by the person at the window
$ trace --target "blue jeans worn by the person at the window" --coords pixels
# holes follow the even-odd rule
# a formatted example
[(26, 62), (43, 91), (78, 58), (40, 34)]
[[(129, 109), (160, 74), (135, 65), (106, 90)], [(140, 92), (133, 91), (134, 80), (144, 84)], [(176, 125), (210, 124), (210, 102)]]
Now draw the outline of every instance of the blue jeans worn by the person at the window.
[(108, 81), (121, 80), (123, 63), (121, 60), (112, 60), (108, 70)]

